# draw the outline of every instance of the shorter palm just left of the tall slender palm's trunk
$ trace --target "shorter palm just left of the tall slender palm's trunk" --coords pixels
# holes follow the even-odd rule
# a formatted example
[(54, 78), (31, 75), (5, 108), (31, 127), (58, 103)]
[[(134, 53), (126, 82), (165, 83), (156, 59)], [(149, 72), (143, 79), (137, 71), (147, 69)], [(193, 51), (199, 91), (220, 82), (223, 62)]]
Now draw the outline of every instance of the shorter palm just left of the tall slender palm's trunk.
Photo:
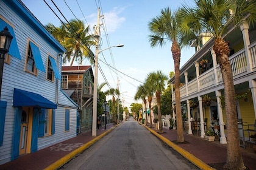
[(167, 80), (168, 77), (164, 75), (163, 72), (161, 72), (160, 70), (157, 70), (157, 72), (149, 73), (148, 78), (153, 80), (152, 86), (155, 91), (155, 96), (157, 97), (157, 115), (158, 115), (158, 121), (159, 121), (159, 132), (163, 133), (160, 101), (161, 101), (161, 94), (165, 89), (165, 81)]

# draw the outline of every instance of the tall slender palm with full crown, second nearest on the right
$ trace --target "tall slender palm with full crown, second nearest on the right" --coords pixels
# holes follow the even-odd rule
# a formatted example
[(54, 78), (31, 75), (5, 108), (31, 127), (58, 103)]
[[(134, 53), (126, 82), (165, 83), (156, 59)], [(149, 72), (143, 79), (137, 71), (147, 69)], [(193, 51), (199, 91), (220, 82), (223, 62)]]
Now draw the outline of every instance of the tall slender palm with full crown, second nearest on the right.
[(183, 124), (182, 112), (180, 104), (180, 48), (182, 47), (182, 38), (177, 27), (176, 13), (171, 12), (169, 8), (161, 10), (160, 16), (156, 16), (149, 22), (149, 30), (152, 35), (149, 36), (151, 47), (157, 45), (163, 47), (167, 41), (172, 42), (171, 53), (174, 60), (175, 69), (175, 100), (176, 100), (176, 115), (177, 115), (177, 141), (183, 142)]

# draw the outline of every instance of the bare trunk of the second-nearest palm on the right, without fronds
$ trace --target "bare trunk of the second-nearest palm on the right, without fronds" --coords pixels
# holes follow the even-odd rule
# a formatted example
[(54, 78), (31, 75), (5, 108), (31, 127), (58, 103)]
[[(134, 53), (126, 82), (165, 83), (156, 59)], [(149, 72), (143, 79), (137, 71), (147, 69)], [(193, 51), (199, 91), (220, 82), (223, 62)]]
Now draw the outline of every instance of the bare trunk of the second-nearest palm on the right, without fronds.
[(180, 104), (180, 47), (177, 41), (172, 42), (171, 46), (172, 58), (174, 60), (174, 85), (175, 85), (175, 106), (176, 106), (176, 117), (177, 117), (177, 142), (183, 142), (183, 124), (182, 124), (182, 113)]

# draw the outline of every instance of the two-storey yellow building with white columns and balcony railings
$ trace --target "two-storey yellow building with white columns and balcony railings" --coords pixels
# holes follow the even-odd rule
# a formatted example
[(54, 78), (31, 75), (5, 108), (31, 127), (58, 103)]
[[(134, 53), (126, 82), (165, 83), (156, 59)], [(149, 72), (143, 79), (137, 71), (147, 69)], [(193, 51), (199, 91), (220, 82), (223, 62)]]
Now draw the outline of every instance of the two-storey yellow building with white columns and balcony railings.
[[(254, 23), (255, 25), (255, 23)], [(256, 117), (256, 29), (253, 24), (243, 22), (232, 26), (224, 36), (230, 46), (230, 64), (236, 93), (236, 108), (241, 140), (251, 142), (246, 131), (247, 124), (254, 124)], [(180, 100), (187, 106), (187, 132), (204, 137), (210, 126), (220, 135), (220, 143), (226, 140), (226, 112), (224, 109), (224, 86), (221, 69), (212, 49), (214, 39), (209, 35), (201, 36), (201, 46), (196, 53), (180, 68)], [(174, 83), (174, 77), (169, 80)], [(172, 89), (173, 91), (173, 89)], [(172, 92), (175, 106), (175, 93)], [(241, 121), (243, 123), (241, 123)], [(254, 126), (255, 127), (255, 126)]]

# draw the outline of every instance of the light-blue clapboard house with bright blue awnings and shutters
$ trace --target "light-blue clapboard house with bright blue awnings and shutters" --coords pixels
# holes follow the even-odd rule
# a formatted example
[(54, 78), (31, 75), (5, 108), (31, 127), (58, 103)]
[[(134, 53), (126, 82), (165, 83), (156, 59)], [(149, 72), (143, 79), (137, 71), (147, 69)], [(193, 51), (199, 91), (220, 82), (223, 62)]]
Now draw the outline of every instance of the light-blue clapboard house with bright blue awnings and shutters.
[(19, 0), (0, 1), (5, 55), (0, 100), (0, 165), (76, 136), (78, 106), (60, 89), (59, 42)]

